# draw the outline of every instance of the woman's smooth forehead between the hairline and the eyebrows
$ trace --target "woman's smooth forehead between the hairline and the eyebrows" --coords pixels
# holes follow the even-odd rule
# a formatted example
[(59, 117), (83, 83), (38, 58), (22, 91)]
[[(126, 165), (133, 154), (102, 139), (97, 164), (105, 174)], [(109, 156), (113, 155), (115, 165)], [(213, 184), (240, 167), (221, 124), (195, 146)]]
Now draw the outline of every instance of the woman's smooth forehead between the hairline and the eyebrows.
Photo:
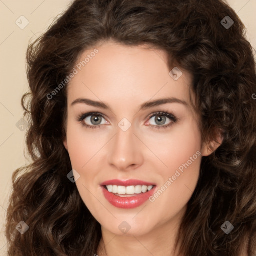
[(160, 97), (189, 101), (191, 74), (182, 70), (179, 79), (174, 80), (167, 63), (165, 51), (146, 44), (104, 42), (79, 56), (74, 66), (77, 73), (67, 86), (68, 102), (81, 96), (119, 104)]

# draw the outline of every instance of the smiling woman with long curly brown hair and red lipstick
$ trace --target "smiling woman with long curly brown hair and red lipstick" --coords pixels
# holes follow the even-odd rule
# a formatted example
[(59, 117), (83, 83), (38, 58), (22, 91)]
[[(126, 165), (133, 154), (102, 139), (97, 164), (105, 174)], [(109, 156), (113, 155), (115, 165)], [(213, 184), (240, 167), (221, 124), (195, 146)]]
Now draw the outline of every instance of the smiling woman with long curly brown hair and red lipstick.
[(254, 255), (243, 31), (221, 0), (75, 0), (27, 51), (9, 255)]

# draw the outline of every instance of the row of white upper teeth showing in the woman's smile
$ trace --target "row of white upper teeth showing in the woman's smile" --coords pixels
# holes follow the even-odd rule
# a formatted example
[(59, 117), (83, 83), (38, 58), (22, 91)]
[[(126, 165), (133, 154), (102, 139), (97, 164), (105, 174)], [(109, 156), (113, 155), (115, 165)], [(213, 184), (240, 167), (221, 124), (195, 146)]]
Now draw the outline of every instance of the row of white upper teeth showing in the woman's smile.
[(136, 185), (136, 186), (117, 186), (117, 185), (107, 185), (108, 192), (118, 193), (118, 194), (141, 194), (150, 191), (153, 186), (146, 185)]

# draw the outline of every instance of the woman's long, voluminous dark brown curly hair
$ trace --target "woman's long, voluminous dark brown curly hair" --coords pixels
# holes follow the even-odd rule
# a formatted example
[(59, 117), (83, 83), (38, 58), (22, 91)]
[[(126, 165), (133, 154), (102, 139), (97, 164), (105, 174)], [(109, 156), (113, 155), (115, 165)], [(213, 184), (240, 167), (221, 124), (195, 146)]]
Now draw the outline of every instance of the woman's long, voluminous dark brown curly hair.
[[(233, 20), (227, 29), (221, 20)], [(84, 50), (113, 39), (165, 50), (193, 76), (203, 141), (222, 144), (202, 157), (176, 245), (182, 255), (240, 256), (256, 251), (256, 68), (245, 27), (222, 0), (75, 0), (27, 49), (30, 92), (22, 97), (32, 161), (12, 176), (8, 255), (93, 255), (100, 224), (83, 203), (63, 140), (66, 89), (47, 95)], [(29, 231), (15, 229), (21, 221)], [(234, 229), (221, 230), (228, 220)]]

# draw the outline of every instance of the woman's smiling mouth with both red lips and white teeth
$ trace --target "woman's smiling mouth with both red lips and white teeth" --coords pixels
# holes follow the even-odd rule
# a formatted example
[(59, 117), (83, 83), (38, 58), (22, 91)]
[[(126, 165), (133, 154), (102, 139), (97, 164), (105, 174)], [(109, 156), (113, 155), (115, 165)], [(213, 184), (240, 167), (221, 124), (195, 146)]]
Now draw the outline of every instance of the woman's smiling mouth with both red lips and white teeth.
[(145, 203), (155, 191), (155, 184), (141, 180), (109, 180), (101, 183), (106, 200), (118, 208), (135, 208)]

